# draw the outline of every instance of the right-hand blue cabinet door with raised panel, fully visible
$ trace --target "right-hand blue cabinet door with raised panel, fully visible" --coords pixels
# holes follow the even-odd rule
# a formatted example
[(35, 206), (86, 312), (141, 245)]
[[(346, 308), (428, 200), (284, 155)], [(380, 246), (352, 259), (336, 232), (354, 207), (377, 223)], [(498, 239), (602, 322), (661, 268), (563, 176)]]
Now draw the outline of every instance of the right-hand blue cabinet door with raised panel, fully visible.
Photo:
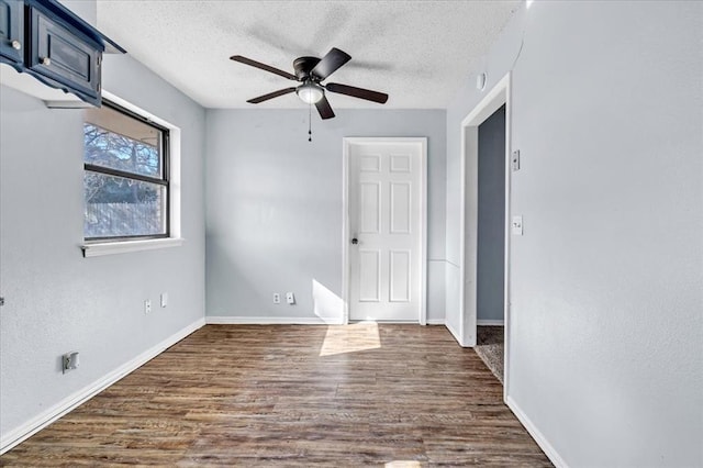
[(42, 12), (31, 9), (32, 52), (29, 68), (65, 85), (79, 97), (100, 99), (102, 52)]

